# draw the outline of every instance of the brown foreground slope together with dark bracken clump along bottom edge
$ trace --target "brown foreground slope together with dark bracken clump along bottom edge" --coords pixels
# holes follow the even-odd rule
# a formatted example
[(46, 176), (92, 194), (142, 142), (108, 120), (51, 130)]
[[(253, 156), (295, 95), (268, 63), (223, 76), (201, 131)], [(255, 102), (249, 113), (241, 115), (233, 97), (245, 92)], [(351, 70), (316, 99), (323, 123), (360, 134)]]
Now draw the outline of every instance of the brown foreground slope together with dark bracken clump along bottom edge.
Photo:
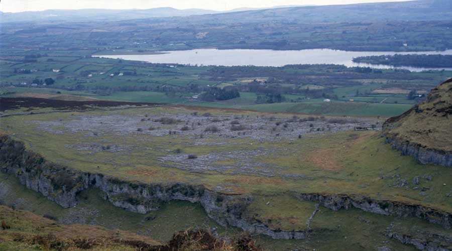
[(173, 234), (166, 244), (148, 237), (101, 226), (60, 224), (52, 216), (0, 205), (0, 250), (109, 250), (109, 251), (259, 251), (248, 234), (217, 238), (203, 229)]

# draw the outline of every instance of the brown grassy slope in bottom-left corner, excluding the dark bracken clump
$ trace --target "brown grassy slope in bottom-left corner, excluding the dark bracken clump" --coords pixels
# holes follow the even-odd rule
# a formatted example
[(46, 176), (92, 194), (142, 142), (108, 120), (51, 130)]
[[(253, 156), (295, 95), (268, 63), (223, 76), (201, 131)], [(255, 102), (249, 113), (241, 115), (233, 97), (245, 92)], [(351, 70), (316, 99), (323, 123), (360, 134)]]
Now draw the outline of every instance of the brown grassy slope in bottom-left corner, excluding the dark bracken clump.
[(135, 250), (160, 245), (158, 241), (126, 231), (63, 225), (50, 218), (0, 205), (0, 250)]

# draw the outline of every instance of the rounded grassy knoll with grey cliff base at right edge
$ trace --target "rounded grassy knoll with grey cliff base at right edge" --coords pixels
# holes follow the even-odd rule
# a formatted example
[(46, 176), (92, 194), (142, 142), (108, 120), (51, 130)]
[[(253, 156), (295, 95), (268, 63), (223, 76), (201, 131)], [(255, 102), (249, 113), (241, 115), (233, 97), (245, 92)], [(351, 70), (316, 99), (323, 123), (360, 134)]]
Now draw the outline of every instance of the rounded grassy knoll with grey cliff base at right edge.
[(452, 167), (452, 79), (432, 89), (425, 102), (386, 120), (382, 132), (403, 155)]

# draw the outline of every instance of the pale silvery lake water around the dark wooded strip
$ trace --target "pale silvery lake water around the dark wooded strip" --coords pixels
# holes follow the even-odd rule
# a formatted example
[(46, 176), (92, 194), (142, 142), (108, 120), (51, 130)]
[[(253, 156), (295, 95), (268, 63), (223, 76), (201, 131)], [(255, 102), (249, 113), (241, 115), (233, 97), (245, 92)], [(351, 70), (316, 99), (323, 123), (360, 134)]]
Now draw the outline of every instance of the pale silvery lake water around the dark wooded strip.
[(407, 69), (410, 71), (423, 70), (452, 70), (452, 68), (418, 68), (418, 67), (393, 67), (388, 65), (360, 64), (352, 61), (360, 56), (379, 56), (394, 54), (442, 54), (452, 55), (452, 50), (441, 52), (358, 52), (340, 51), (331, 49), (310, 49), (293, 51), (275, 50), (217, 50), (196, 49), (186, 51), (166, 51), (156, 55), (102, 55), (95, 57), (117, 58), (125, 60), (138, 60), (151, 63), (177, 63), (191, 65), (255, 65), (255, 66), (284, 66), (288, 64), (340, 64), (346, 66), (363, 66), (380, 69)]

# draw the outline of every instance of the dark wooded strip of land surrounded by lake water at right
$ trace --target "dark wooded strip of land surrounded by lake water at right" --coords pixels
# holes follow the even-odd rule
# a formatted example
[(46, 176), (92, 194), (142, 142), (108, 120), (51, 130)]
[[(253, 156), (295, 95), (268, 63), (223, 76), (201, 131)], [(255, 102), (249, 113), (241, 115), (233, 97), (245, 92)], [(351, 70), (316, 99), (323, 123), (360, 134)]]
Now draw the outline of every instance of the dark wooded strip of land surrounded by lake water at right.
[(384, 64), (392, 66), (412, 67), (452, 67), (452, 55), (383, 55), (357, 57), (353, 59), (357, 63)]

